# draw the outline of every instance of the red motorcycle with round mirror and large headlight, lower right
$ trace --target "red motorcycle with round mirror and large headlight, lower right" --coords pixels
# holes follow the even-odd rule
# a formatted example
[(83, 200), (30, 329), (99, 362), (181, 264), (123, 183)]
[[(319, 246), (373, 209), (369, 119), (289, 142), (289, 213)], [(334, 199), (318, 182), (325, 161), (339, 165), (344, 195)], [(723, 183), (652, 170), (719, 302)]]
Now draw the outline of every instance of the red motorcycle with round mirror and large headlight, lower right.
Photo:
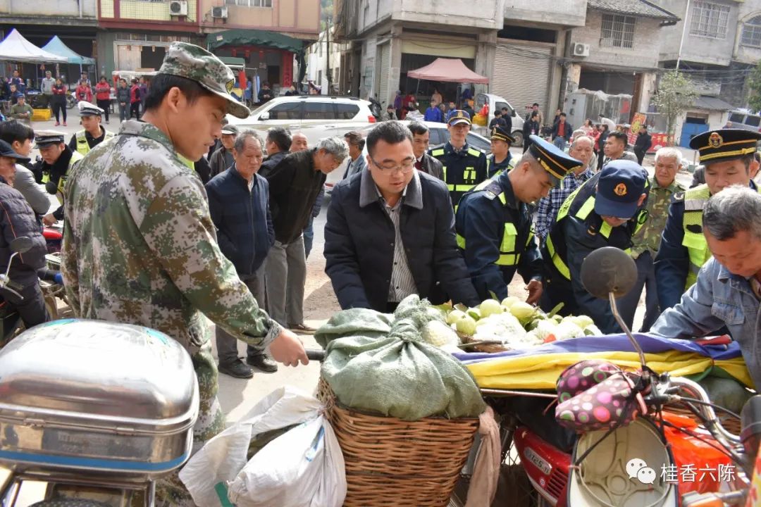
[[(648, 369), (642, 347), (626, 328), (616, 308), (616, 296), (627, 293), (636, 278), (636, 268), (631, 258), (619, 249), (597, 250), (585, 259), (581, 278), (588, 292), (598, 298), (609, 299), (616, 321), (625, 331), (633, 350), (638, 353), (641, 369), (636, 374), (616, 372), (617, 376), (613, 377), (621, 382), (624, 379), (631, 381), (628, 385), (622, 384), (624, 387), (617, 391), (626, 393), (626, 396), (616, 399), (614, 393), (611, 397), (621, 402), (622, 407), (633, 404), (632, 414), (637, 415), (629, 414), (628, 419), (621, 419), (603, 429), (577, 420), (572, 425), (575, 432), (564, 431), (559, 423), (567, 421), (558, 417), (571, 400), (579, 401), (579, 407), (589, 403), (589, 410), (584, 410), (586, 414), (600, 408), (596, 396), (603, 389), (599, 385), (587, 386), (591, 395), (587, 395), (586, 390), (575, 393), (579, 398), (575, 395), (559, 398), (557, 394), (532, 393), (533, 400), (537, 401), (533, 406), (530, 403), (516, 403), (526, 401), (528, 393), (506, 396), (508, 393), (498, 389), (482, 389), (495, 412), (501, 414), (501, 463), (508, 467), (512, 465), (513, 471), (527, 477), (522, 489), (518, 481), (517, 487), (511, 491), (512, 498), (522, 503), (509, 505), (740, 505), (750, 486), (748, 477), (752, 474), (752, 455), (759, 447), (752, 437), (761, 429), (761, 423), (754, 423), (753, 420), (753, 417), (761, 416), (761, 397), (753, 397), (746, 404), (746, 408), (752, 405), (756, 410), (743, 419), (743, 439), (730, 433), (699, 384)], [(605, 372), (605, 363), (588, 363), (583, 366), (588, 366), (592, 375), (600, 375), (601, 378), (611, 376)], [(607, 365), (616, 368), (610, 363)], [(563, 375), (569, 370), (573, 372), (575, 366)], [(559, 386), (563, 385), (563, 375)], [(588, 397), (586, 400), (584, 395)], [(607, 395), (610, 393), (606, 392)], [(559, 408), (550, 406), (551, 414), (542, 414), (542, 409), (547, 408), (555, 398), (562, 400)], [(521, 414), (515, 410), (516, 406), (529, 406), (532, 410)], [(536, 410), (537, 406), (539, 410)], [(684, 412), (691, 417), (685, 417)], [(735, 422), (739, 426), (739, 421)], [(747, 443), (749, 441), (750, 445)], [(750, 449), (750, 454), (747, 449)], [(697, 472), (692, 482), (683, 473), (690, 461), (701, 461), (692, 464), (693, 471)], [(712, 473), (705, 470), (703, 461), (712, 464)], [(638, 475), (644, 468), (647, 469), (642, 472), (644, 475)], [(733, 477), (714, 477), (718, 470), (732, 471)], [(761, 474), (761, 462), (758, 471)], [(465, 472), (470, 472), (468, 465)]]

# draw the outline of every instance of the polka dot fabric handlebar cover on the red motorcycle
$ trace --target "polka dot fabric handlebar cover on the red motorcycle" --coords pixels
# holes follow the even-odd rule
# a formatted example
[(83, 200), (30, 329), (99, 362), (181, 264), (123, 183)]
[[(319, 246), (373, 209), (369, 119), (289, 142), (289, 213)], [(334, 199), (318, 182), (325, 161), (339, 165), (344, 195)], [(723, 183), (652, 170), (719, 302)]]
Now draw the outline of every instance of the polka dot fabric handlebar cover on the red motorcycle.
[(624, 426), (647, 414), (645, 400), (635, 394), (637, 376), (602, 360), (568, 366), (558, 379), (556, 420), (581, 433)]

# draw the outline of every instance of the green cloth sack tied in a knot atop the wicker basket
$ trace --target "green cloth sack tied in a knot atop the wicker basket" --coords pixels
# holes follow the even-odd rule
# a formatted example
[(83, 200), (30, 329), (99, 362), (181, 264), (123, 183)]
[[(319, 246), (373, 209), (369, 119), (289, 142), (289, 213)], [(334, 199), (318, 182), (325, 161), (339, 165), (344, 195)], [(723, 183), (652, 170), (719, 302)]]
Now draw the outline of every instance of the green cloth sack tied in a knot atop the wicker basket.
[[(422, 342), (422, 327), (430, 320), (423, 316), (425, 312), (412, 309), (409, 316), (400, 318), (404, 313), (397, 310), (385, 335), (378, 326), (374, 331), (379, 336), (339, 337), (327, 344), (322, 375), (338, 401), (356, 410), (409, 421), (429, 416), (478, 417), (486, 405), (473, 375), (449, 353)], [(378, 324), (377, 315), (370, 322)], [(368, 321), (362, 325), (370, 326)], [(363, 328), (357, 334), (371, 331)]]

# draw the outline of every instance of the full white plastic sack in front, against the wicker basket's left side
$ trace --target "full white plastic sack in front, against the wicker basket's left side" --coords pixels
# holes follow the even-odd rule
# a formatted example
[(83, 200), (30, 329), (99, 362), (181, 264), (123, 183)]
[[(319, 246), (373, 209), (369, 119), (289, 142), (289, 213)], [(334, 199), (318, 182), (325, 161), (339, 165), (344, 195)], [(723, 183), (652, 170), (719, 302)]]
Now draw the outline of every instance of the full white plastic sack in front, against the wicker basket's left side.
[(341, 447), (323, 416), (269, 442), (228, 488), (237, 507), (340, 507), (345, 496)]

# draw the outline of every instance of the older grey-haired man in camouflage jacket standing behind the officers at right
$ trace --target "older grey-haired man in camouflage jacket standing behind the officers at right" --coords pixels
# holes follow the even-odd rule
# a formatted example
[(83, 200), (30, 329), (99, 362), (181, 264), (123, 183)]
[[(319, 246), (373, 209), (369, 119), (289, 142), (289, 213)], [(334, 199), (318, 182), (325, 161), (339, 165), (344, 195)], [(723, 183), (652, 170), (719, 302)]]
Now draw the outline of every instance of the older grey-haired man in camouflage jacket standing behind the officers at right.
[(658, 287), (655, 283), (653, 260), (661, 246), (661, 235), (666, 227), (666, 217), (673, 195), (684, 192), (676, 177), (682, 167), (682, 154), (673, 147), (665, 147), (655, 154), (655, 172), (650, 178), (648, 216), (645, 224), (632, 236), (632, 258), (637, 265), (637, 283), (626, 296), (619, 299), (621, 316), (629, 328), (634, 323), (634, 312), (642, 289), (645, 293), (645, 319), (640, 331), (647, 332), (661, 315)]

